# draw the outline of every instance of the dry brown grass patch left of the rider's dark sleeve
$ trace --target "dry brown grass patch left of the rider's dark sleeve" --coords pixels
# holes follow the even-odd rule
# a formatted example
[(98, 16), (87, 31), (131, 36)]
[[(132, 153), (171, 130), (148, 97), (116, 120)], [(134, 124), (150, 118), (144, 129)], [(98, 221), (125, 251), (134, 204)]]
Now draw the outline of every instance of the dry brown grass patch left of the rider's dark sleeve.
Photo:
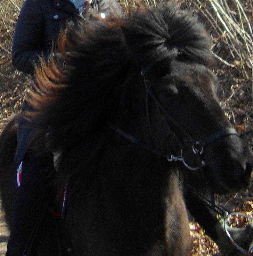
[(11, 115), (21, 108), (29, 76), (11, 64), (11, 45), (15, 24), (24, 0), (0, 1), (0, 131)]

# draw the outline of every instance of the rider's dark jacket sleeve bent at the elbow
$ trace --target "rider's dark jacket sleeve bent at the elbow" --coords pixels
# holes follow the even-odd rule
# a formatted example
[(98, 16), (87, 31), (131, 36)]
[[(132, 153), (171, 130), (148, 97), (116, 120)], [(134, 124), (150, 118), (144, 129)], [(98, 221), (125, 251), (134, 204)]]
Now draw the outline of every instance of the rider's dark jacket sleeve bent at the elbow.
[(43, 15), (40, 0), (26, 0), (18, 17), (12, 47), (12, 62), (24, 73), (34, 73), (39, 55), (48, 59), (48, 52), (40, 49), (43, 36)]

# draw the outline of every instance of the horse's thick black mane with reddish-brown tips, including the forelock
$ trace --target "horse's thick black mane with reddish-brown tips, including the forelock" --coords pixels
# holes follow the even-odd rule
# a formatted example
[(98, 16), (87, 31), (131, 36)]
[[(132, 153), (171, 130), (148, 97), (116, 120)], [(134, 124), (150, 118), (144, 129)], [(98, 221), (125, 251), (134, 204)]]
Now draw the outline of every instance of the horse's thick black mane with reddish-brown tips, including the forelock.
[(37, 68), (30, 92), (36, 129), (62, 151), (98, 133), (115, 109), (123, 86), (173, 76), (173, 66), (211, 62), (203, 26), (178, 5), (136, 8), (123, 18), (79, 20), (62, 32), (48, 63)]

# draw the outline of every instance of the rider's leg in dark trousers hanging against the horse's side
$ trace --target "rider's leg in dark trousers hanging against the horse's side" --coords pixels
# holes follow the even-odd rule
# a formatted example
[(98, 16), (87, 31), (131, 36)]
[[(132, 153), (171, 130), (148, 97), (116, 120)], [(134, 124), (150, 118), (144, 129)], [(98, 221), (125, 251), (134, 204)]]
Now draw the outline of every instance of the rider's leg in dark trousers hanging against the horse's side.
[(53, 157), (26, 153), (6, 255), (23, 255), (26, 244), (49, 198), (54, 178)]

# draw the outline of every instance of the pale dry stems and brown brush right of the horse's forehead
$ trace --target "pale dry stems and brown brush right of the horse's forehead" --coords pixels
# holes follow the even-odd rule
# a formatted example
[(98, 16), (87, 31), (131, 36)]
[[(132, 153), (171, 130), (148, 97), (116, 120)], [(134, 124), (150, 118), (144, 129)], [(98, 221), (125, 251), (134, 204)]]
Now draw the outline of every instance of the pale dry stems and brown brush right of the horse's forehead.
[(217, 59), (214, 73), (227, 118), (253, 146), (252, 0), (188, 0), (206, 24)]

